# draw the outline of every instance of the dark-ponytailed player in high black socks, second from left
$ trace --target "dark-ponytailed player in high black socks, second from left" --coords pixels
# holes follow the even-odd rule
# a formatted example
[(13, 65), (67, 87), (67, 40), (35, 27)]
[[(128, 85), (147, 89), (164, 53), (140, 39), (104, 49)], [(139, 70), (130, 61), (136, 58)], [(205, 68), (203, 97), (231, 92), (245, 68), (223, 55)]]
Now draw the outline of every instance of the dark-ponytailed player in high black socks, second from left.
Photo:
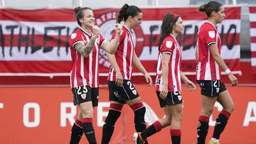
[[(144, 74), (146, 82), (152, 84), (151, 77), (144, 69), (134, 52), (134, 38), (132, 28), (142, 23), (142, 11), (137, 6), (124, 4), (118, 13), (117, 23), (124, 21), (119, 45), (114, 55), (108, 55), (112, 65), (108, 76), (108, 87), (110, 91), (110, 110), (102, 130), (102, 144), (109, 143), (114, 132), (114, 123), (121, 114), (123, 104), (128, 104), (134, 111), (134, 126), (137, 132), (146, 129), (144, 115), (146, 109), (142, 103), (139, 93), (130, 81), (133, 65)], [(116, 33), (113, 33), (114, 38)]]

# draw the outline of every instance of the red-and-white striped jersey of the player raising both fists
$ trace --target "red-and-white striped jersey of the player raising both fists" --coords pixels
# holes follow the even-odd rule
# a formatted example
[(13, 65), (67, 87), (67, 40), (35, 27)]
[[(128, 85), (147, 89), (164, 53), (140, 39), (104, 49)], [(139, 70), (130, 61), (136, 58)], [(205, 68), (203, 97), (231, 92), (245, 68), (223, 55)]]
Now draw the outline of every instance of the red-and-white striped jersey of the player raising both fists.
[(88, 34), (78, 28), (70, 36), (70, 52), (72, 57), (72, 67), (70, 70), (70, 87), (90, 86), (99, 87), (99, 72), (98, 61), (99, 52), (102, 42), (105, 40), (102, 35), (98, 35), (95, 40), (95, 45), (92, 48), (92, 52), (87, 57), (83, 57), (78, 50), (75, 50), (74, 45), (78, 42), (89, 43), (92, 33)]

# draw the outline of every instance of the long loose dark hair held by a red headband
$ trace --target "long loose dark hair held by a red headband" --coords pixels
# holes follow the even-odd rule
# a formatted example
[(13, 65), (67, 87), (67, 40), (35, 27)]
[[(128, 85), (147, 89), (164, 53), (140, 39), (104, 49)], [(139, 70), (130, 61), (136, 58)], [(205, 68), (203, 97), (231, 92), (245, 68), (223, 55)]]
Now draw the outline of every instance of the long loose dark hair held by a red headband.
[(164, 19), (161, 24), (161, 33), (160, 33), (160, 38), (158, 42), (159, 50), (161, 48), (161, 43), (163, 43), (164, 38), (166, 36), (170, 35), (174, 28), (174, 23), (178, 20), (180, 16), (176, 15), (176, 18), (174, 19), (174, 13), (167, 13), (166, 16), (164, 16)]

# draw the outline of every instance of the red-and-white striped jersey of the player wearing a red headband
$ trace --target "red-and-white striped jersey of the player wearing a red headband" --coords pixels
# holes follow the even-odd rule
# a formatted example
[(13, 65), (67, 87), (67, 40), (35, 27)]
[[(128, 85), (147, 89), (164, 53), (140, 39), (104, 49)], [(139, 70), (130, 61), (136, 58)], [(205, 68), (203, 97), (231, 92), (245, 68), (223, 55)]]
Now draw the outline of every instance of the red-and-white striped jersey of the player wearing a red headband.
[(162, 55), (170, 54), (168, 91), (181, 92), (181, 48), (173, 35), (167, 36), (161, 43), (161, 50), (157, 61), (156, 91), (161, 91), (164, 81), (162, 77)]

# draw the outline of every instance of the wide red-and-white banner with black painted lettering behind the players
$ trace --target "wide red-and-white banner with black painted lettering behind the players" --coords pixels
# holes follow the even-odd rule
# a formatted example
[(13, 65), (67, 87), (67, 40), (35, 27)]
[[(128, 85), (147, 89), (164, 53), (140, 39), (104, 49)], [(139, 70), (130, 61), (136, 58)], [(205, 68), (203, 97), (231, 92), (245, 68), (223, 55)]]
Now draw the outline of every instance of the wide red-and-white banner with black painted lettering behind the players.
[[(119, 9), (94, 10), (96, 24), (110, 40)], [(206, 21), (197, 7), (142, 9), (143, 21), (134, 30), (136, 52), (148, 72), (156, 72), (161, 20), (166, 13), (178, 13), (185, 23), (178, 42), (183, 50), (182, 70), (195, 74), (195, 45), (198, 28)], [(235, 13), (235, 14), (234, 14)], [(222, 57), (233, 72), (240, 72), (240, 7), (225, 9), (225, 21), (218, 25)], [(0, 9), (0, 75), (65, 76), (70, 71), (68, 37), (78, 24), (72, 9)], [(109, 72), (105, 51), (100, 52), (100, 74)], [(134, 74), (137, 74), (134, 70)]]

